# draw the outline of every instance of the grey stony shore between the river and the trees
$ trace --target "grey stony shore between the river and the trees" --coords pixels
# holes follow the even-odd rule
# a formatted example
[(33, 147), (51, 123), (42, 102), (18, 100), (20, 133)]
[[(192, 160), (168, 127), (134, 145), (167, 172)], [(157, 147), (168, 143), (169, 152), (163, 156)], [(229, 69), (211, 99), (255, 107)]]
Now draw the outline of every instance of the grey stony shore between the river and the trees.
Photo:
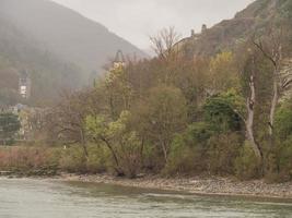
[(145, 175), (130, 180), (125, 178), (115, 178), (107, 174), (62, 174), (60, 178), (58, 178), (58, 180), (179, 191), (190, 194), (276, 197), (292, 199), (292, 182), (270, 184), (266, 183), (264, 180), (238, 181), (231, 178), (220, 177), (163, 179), (156, 175)]

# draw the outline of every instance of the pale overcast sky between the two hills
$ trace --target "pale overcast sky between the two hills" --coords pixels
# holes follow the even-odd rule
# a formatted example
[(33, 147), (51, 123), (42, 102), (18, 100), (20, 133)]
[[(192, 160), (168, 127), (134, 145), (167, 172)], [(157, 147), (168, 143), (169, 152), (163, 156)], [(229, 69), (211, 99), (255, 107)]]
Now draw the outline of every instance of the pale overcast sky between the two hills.
[(254, 0), (54, 0), (95, 20), (110, 32), (147, 49), (149, 36), (175, 26), (182, 36), (205, 23), (231, 19)]

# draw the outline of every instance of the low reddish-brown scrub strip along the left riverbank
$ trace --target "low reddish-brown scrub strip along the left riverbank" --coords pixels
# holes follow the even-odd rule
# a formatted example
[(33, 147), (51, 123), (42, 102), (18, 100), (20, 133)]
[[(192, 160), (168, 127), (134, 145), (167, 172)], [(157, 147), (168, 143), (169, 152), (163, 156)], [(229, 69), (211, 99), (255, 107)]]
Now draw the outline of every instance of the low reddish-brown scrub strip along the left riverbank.
[[(106, 171), (104, 156), (96, 146), (89, 146), (86, 159), (79, 146), (8, 146), (0, 148), (0, 171), (12, 175), (56, 175), (69, 173), (101, 173)], [(101, 154), (101, 155), (98, 155)], [(1, 173), (0, 173), (1, 174)]]

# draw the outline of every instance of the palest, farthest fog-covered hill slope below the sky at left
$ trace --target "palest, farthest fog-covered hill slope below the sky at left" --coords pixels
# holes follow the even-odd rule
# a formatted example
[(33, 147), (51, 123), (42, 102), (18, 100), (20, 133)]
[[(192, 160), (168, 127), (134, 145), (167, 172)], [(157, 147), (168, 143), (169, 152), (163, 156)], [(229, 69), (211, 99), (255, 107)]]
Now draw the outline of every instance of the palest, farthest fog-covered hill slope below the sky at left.
[(101, 70), (118, 49), (125, 55), (145, 57), (103, 25), (48, 0), (0, 0), (0, 13), (44, 43), (49, 51), (86, 72)]

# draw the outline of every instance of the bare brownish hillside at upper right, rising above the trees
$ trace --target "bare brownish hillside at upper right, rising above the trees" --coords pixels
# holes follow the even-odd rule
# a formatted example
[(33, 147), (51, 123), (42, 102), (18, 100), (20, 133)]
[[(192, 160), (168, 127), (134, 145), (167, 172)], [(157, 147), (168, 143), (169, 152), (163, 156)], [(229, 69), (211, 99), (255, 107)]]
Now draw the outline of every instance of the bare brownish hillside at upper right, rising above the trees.
[(288, 28), (291, 28), (291, 0), (256, 0), (234, 19), (222, 21), (197, 37), (189, 38), (187, 49), (196, 56), (233, 50), (253, 34), (262, 34), (271, 25), (283, 29), (287, 28), (283, 26), (290, 25)]

